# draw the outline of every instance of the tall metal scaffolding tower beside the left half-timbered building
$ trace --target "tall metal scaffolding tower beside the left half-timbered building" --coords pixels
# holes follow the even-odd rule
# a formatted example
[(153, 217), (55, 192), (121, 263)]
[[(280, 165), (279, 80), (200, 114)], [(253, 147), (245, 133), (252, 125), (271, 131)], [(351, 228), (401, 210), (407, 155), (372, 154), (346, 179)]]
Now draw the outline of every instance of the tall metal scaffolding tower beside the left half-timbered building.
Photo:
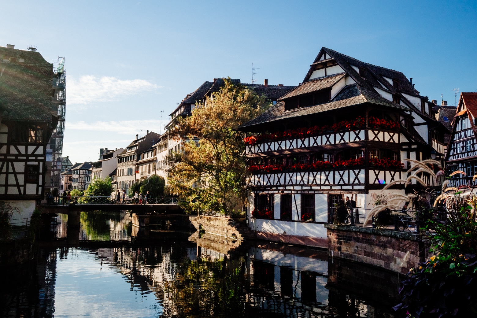
[[(66, 73), (64, 70), (64, 57), (53, 59), (53, 97), (52, 97), (52, 112), (57, 113), (58, 124), (52, 132), (52, 137), (49, 142), (49, 149), (47, 149), (47, 161), (51, 154), (51, 167), (49, 168), (51, 178), (46, 180), (47, 184), (50, 181), (50, 193), (59, 195), (61, 173), (62, 173), (62, 159), (63, 159), (63, 134), (64, 134), (64, 120), (66, 112)], [(48, 164), (48, 163), (47, 163)], [(46, 185), (48, 187), (48, 185)]]

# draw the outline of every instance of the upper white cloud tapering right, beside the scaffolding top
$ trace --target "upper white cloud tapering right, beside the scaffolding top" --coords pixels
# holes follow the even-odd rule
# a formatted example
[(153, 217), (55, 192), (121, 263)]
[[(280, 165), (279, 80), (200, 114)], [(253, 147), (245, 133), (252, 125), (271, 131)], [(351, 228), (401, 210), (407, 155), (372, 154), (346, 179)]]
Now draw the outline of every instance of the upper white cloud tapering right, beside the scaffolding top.
[(79, 80), (68, 80), (68, 104), (112, 102), (120, 97), (154, 91), (161, 87), (146, 80), (119, 80), (110, 76), (98, 78), (94, 75), (83, 75)]

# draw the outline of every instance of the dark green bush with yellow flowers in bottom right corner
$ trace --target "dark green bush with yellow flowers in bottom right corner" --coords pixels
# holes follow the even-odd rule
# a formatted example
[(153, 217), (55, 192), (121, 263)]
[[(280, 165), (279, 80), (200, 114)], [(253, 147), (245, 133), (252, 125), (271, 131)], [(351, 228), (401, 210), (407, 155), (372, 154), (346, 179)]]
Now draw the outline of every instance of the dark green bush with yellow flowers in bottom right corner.
[(455, 196), (444, 214), (424, 218), (421, 228), (435, 255), (412, 268), (400, 290), (410, 317), (477, 315), (477, 223), (469, 197)]

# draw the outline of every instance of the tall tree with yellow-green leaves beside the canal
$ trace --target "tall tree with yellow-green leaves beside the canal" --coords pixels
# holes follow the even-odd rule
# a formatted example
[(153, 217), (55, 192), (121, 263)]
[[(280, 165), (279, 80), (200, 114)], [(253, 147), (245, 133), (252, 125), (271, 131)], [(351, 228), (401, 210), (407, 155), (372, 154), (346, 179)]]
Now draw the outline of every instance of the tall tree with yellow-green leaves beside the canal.
[(230, 78), (224, 82), (191, 116), (176, 118), (171, 130), (173, 138), (188, 137), (182, 151), (168, 158), (170, 191), (188, 213), (227, 214), (241, 209), (246, 199), (244, 134), (235, 128), (262, 113), (270, 101)]

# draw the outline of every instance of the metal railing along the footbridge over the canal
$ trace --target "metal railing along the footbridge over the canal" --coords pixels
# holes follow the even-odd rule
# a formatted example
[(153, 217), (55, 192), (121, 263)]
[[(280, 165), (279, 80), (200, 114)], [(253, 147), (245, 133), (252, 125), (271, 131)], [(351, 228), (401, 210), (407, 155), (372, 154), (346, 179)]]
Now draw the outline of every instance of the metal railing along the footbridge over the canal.
[(122, 196), (116, 198), (115, 196), (55, 196), (46, 200), (46, 205), (103, 205), (103, 204), (177, 204), (178, 198), (173, 196), (152, 196), (147, 200), (135, 197)]

